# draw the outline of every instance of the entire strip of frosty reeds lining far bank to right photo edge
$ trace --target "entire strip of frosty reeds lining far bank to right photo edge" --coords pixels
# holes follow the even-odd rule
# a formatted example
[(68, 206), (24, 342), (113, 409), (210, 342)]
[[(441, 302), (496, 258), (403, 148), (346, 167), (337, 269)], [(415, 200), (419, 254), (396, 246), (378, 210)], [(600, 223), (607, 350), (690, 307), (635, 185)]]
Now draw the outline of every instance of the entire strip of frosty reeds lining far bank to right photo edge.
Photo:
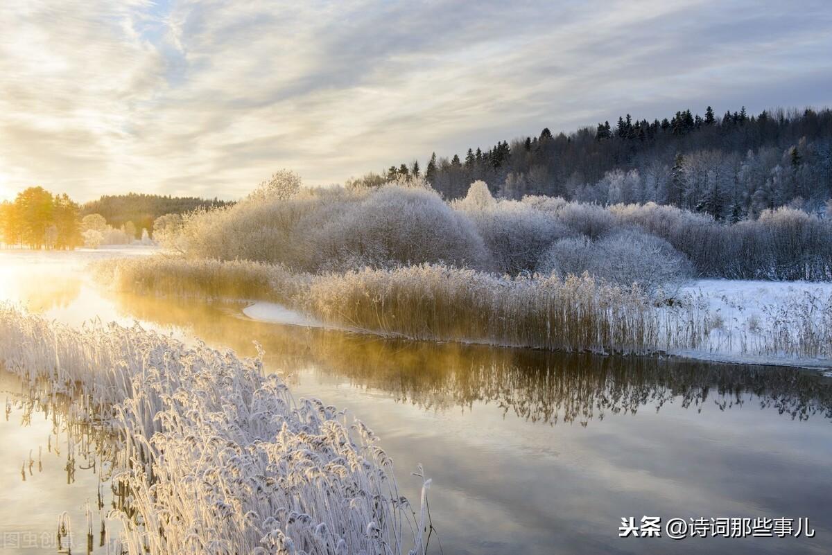
[(709, 299), (695, 292), (668, 298), (586, 273), (513, 278), (421, 264), (313, 275), (263, 263), (164, 257), (97, 263), (97, 273), (131, 291), (281, 302), (335, 327), (418, 340), (832, 358), (832, 297), (810, 293), (767, 307), (752, 325), (722, 321)]

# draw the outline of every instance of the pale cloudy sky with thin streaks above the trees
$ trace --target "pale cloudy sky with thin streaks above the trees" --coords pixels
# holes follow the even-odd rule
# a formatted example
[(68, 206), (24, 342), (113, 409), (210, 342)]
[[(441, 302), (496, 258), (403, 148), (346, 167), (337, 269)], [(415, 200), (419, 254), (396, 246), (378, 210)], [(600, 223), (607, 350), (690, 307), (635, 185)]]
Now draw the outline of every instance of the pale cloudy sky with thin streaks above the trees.
[(631, 113), (832, 105), (832, 3), (2, 0), (0, 199), (236, 199)]

